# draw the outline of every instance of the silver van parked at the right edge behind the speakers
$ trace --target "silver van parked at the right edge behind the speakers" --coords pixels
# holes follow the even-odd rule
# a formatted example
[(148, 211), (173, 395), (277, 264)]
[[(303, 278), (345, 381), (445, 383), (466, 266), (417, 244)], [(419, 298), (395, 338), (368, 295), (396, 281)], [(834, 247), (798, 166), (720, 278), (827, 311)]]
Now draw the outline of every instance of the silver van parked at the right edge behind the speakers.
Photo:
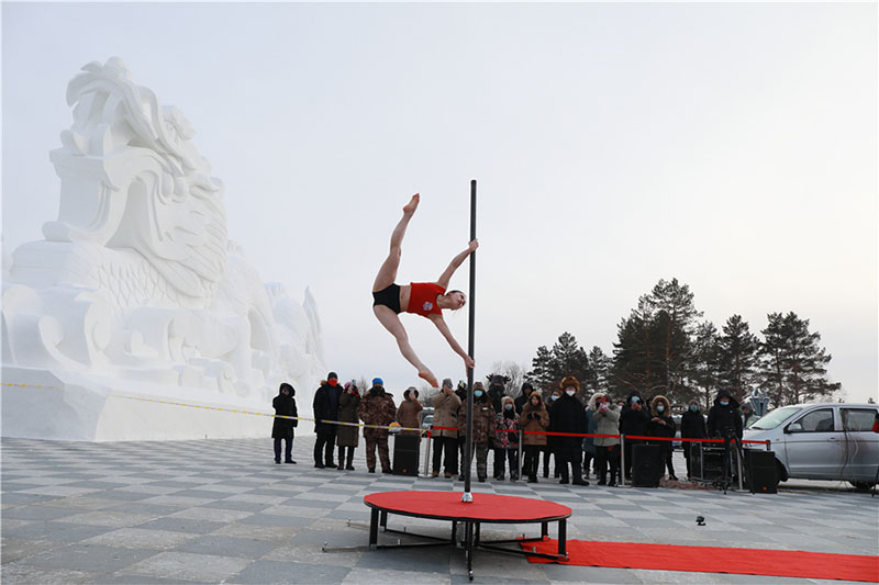
[(876, 484), (879, 434), (872, 431), (879, 405), (797, 404), (770, 410), (744, 434), (769, 440), (779, 479), (841, 480), (860, 490)]

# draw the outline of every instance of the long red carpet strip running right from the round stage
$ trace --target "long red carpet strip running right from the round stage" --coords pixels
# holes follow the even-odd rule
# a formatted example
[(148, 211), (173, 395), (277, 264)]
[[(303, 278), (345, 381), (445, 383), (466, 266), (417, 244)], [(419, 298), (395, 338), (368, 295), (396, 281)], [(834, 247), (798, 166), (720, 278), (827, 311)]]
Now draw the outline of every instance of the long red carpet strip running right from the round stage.
[[(522, 543), (526, 551), (532, 547), (537, 552), (558, 552), (556, 540)], [(559, 564), (879, 583), (879, 556), (861, 554), (568, 540), (568, 555), (570, 560)], [(536, 556), (528, 561), (556, 562)]]

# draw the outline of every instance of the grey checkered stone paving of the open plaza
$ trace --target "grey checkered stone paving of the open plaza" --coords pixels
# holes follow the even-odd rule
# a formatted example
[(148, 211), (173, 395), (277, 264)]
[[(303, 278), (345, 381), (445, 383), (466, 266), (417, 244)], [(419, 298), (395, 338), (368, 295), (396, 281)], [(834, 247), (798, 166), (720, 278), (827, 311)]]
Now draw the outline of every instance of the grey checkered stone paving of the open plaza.
[[(467, 583), (461, 550), (349, 550), (368, 541), (366, 494), (461, 482), (274, 463), (271, 439), (84, 443), (2, 439), (2, 582)], [(683, 470), (683, 461), (679, 462)], [(815, 484), (816, 485), (816, 484)], [(800, 482), (776, 495), (474, 481), (476, 493), (569, 506), (568, 538), (879, 553), (879, 497)], [(705, 526), (697, 526), (697, 515)], [(391, 516), (389, 528), (445, 536), (448, 522)], [(535, 527), (488, 525), (483, 538)], [(555, 537), (554, 530), (550, 536)], [(397, 536), (379, 535), (379, 542)], [(714, 573), (531, 564), (477, 551), (474, 583), (813, 583)], [(825, 583), (842, 583), (830, 581)]]

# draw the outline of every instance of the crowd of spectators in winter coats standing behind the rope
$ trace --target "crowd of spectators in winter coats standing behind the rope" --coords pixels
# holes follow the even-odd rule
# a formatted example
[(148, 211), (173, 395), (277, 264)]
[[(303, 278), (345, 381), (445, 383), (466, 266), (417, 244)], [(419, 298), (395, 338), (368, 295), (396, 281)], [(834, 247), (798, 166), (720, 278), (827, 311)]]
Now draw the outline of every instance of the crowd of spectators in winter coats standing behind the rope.
[[(598, 485), (613, 486), (623, 476), (631, 481), (633, 448), (646, 442), (660, 447), (667, 476), (677, 481), (672, 442), (667, 439), (676, 437), (678, 425), (666, 396), (659, 394), (645, 401), (641, 392), (633, 390), (624, 400), (614, 401), (604, 392), (596, 392), (585, 400), (579, 381), (566, 376), (546, 398), (528, 382), (522, 384), (520, 395), (513, 398), (507, 395), (508, 378), (490, 375), (488, 380), (488, 389), (482, 382), (474, 384), (472, 451), (469, 458), (464, 457), (467, 443), (466, 384), (458, 382), (455, 386), (446, 378), (439, 392), (430, 398), (433, 407), (429, 434), (433, 441), (431, 476), (438, 477), (442, 472), (446, 479), (457, 474), (463, 480), (466, 462), (475, 459), (477, 481), (485, 482), (489, 476), (489, 453), (492, 453), (491, 476), (496, 481), (504, 480), (509, 468), (511, 481), (519, 480), (521, 474), (530, 483), (537, 483), (541, 470), (544, 479), (549, 477), (552, 462), (554, 477), (561, 484), (589, 485), (588, 479), (593, 473)], [(282, 441), (286, 441), (283, 461), (296, 463), (292, 460), (293, 429), (298, 423), (294, 395), (294, 389), (283, 383), (272, 401), (276, 415), (281, 415), (275, 418), (271, 432), (276, 463), (281, 462)], [(583, 400), (586, 404), (581, 402)], [(388, 438), (396, 430), (393, 427), (401, 427), (402, 434), (416, 437), (426, 432), (421, 429), (424, 404), (419, 398), (419, 391), (414, 386), (405, 390), (398, 407), (380, 378), (375, 378), (371, 387), (361, 396), (355, 381), (340, 385), (337, 374), (330, 372), (314, 393), (312, 407), (316, 435), (314, 466), (318, 469), (354, 470), (360, 424), (369, 473), (376, 472), (377, 463), (380, 463), (382, 473), (391, 472)], [(749, 407), (742, 410), (739, 413), (738, 403), (726, 391), (719, 392), (708, 417), (702, 414), (698, 401), (690, 401), (680, 417), (680, 437), (741, 438), (743, 428), (753, 416)], [(621, 458), (620, 435), (626, 436), (624, 458)], [(519, 461), (520, 440), (523, 461)], [(683, 441), (688, 477), (692, 476), (691, 445)], [(335, 447), (338, 448), (336, 461)]]

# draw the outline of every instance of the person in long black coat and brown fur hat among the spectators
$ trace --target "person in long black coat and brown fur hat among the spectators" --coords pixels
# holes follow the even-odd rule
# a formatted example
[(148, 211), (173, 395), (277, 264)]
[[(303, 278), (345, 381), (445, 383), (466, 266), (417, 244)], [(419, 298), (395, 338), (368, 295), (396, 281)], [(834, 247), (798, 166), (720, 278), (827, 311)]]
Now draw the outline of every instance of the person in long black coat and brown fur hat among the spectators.
[[(561, 380), (561, 396), (553, 404), (549, 412), (549, 430), (552, 432), (587, 431), (586, 410), (582, 403), (577, 400), (580, 382), (574, 376)], [(574, 485), (589, 485), (583, 480), (582, 468), (582, 437), (555, 437), (556, 463), (560, 465), (561, 481), (558, 483), (572, 483)], [(570, 475), (568, 474), (570, 465)]]

